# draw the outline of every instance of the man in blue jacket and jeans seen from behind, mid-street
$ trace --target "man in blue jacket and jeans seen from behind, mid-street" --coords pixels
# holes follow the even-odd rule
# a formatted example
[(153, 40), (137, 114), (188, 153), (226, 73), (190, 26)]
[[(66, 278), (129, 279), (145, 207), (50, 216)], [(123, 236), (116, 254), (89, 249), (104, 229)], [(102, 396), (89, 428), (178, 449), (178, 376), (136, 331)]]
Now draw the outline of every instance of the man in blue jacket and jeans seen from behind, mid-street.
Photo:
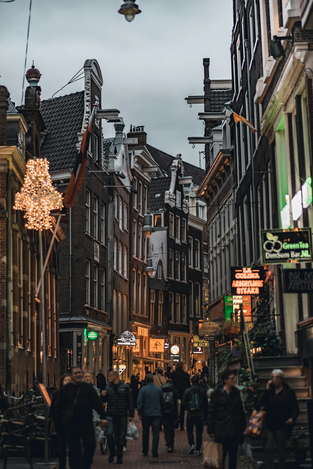
[(145, 456), (149, 451), (149, 431), (152, 429), (152, 455), (158, 458), (161, 416), (163, 414), (163, 393), (159, 386), (154, 386), (153, 375), (145, 375), (145, 386), (138, 394), (137, 410), (142, 420), (142, 452)]

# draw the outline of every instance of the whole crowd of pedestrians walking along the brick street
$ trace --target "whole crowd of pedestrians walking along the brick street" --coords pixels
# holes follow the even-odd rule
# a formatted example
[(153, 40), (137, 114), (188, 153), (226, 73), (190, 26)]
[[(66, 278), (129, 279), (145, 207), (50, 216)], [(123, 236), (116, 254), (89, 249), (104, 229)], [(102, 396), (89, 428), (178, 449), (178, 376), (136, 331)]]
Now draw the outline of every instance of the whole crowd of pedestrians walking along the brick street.
[[(200, 372), (199, 372), (200, 371)], [(152, 430), (152, 456), (159, 457), (160, 431), (164, 432), (167, 452), (175, 447), (175, 430), (187, 430), (188, 454), (201, 454), (204, 425), (210, 439), (221, 443), (223, 467), (229, 454), (229, 469), (237, 467), (238, 446), (244, 443), (246, 415), (236, 375), (225, 370), (221, 382), (210, 388), (208, 368), (185, 371), (183, 362), (176, 369), (162, 367), (151, 373), (145, 368), (145, 379), (134, 375), (127, 383), (116, 371), (110, 371), (108, 384), (102, 370), (92, 384), (89, 370), (72, 367), (69, 375), (60, 378), (51, 404), (51, 416), (59, 435), (60, 469), (66, 468), (67, 447), (70, 469), (90, 469), (96, 448), (95, 424), (106, 428), (109, 449), (108, 462), (122, 464), (126, 451), (126, 434), (137, 409), (142, 424), (142, 453), (149, 453)], [(286, 439), (290, 436), (299, 409), (294, 391), (284, 382), (283, 372), (274, 370), (259, 405), (266, 410), (266, 467), (274, 466), (274, 445), (278, 452), (278, 467), (285, 465)], [(105, 406), (105, 407), (104, 407)], [(186, 420), (185, 420), (186, 418)], [(196, 438), (194, 438), (194, 429)]]

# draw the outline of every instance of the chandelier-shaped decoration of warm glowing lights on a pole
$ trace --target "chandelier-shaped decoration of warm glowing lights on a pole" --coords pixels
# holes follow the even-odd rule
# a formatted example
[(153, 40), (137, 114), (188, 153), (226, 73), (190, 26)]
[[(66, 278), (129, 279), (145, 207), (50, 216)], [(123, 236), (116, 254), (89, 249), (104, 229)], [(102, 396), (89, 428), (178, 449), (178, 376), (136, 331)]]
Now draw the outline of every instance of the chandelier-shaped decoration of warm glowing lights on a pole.
[(15, 195), (15, 210), (25, 210), (26, 228), (42, 231), (52, 228), (50, 211), (61, 209), (62, 195), (54, 189), (49, 161), (29, 159), (21, 192)]

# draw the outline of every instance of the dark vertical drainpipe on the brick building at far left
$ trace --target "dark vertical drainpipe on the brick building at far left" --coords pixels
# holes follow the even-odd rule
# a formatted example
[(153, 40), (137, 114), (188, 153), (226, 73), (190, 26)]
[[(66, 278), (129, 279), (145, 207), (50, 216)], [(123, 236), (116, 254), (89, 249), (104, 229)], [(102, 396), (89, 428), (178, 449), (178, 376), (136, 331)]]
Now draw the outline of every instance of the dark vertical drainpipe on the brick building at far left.
[(12, 168), (11, 162), (9, 163), (8, 169), (8, 181), (7, 181), (7, 212), (8, 212), (8, 224), (7, 224), (7, 314), (6, 314), (6, 329), (7, 329), (7, 356), (6, 356), (6, 375), (7, 375), (7, 386), (8, 393), (11, 394), (11, 374), (12, 374)]

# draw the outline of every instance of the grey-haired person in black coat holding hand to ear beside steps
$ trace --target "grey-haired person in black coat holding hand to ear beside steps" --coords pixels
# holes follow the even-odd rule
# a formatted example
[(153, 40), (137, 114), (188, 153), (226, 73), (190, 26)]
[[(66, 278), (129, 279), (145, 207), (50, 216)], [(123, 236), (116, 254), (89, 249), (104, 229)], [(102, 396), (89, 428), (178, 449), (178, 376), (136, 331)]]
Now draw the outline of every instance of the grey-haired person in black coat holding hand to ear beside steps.
[(293, 425), (299, 415), (296, 394), (283, 382), (282, 370), (273, 370), (271, 379), (260, 397), (260, 406), (266, 411), (266, 441), (264, 446), (265, 464), (268, 469), (274, 467), (274, 443), (278, 454), (278, 469), (283, 469), (286, 462), (286, 440), (291, 435)]

